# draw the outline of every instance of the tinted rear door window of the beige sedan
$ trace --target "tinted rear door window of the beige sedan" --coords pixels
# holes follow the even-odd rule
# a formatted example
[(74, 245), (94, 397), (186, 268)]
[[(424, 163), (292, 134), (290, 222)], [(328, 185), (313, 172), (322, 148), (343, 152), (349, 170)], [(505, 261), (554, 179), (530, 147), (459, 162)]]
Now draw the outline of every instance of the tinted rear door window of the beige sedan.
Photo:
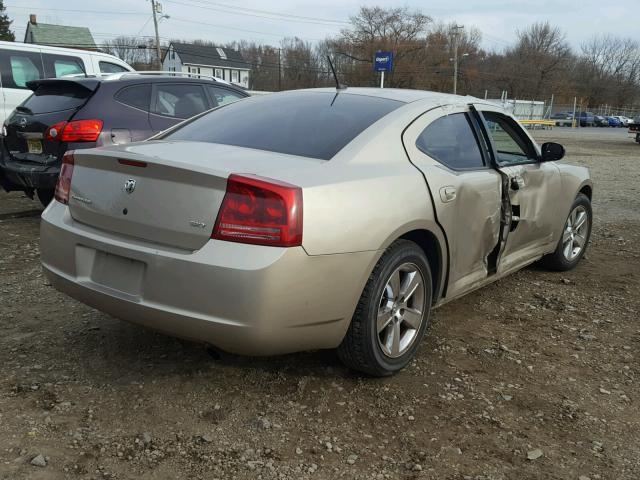
[(433, 121), (416, 140), (416, 147), (454, 170), (484, 167), (476, 135), (464, 113)]

